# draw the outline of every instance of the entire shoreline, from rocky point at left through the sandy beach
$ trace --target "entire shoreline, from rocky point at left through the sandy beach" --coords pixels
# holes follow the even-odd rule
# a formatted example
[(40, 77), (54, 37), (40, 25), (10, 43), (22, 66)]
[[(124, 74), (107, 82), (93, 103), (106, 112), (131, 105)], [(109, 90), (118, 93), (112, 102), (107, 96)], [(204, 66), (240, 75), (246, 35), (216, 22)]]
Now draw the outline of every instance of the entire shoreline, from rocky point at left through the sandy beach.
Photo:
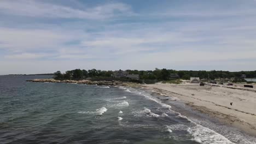
[[(252, 105), (253, 101), (256, 101), (255, 92), (246, 91), (246, 89), (230, 89), (226, 87), (216, 87), (206, 85), (200, 87), (195, 84), (163, 84), (156, 83), (150, 85), (141, 85), (133, 82), (121, 82), (121, 81), (90, 81), (90, 80), (54, 80), (54, 79), (34, 79), (27, 80), (31, 82), (54, 82), (54, 83), (80, 83), (86, 85), (106, 85), (106, 86), (127, 86), (132, 88), (140, 88), (143, 90), (154, 91), (155, 94), (163, 97), (174, 97), (174, 99), (166, 99), (171, 101), (178, 100), (179, 102), (186, 104), (191, 109), (208, 115), (210, 118), (217, 119), (220, 123), (225, 123), (231, 127), (238, 128), (243, 132), (256, 137), (256, 112)], [(225, 93), (225, 94), (224, 94)], [(246, 99), (246, 96), (239, 97), (241, 94), (249, 95), (251, 99)], [(238, 94), (238, 95), (237, 95)], [(214, 97), (214, 96), (218, 97)], [(226, 97), (226, 95), (235, 95), (234, 97)], [(235, 100), (234, 100), (235, 99)], [(237, 100), (238, 99), (238, 100)], [(162, 102), (165, 102), (165, 99)], [(230, 106), (229, 100), (234, 101), (234, 106)], [(251, 100), (251, 110), (241, 109), (245, 101)], [(243, 103), (243, 104), (239, 104)], [(236, 107), (238, 105), (239, 107)], [(255, 122), (254, 122), (255, 121)]]

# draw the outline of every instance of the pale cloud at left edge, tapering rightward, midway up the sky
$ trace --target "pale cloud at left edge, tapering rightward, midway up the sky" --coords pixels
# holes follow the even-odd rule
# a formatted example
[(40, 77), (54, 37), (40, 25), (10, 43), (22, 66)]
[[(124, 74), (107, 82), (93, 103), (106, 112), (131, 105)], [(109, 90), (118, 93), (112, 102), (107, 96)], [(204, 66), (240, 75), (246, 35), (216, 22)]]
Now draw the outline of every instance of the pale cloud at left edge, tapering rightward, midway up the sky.
[(72, 40), (72, 35), (63, 35), (45, 29), (17, 29), (0, 27), (0, 49), (43, 49), (56, 47), (63, 41)]

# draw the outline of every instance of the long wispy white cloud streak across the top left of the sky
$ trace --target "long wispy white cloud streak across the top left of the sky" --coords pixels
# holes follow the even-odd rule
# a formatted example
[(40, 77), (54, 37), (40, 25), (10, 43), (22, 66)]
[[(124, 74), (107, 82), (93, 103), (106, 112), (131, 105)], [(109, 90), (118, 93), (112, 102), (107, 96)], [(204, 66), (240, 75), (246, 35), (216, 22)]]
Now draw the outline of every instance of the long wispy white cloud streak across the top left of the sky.
[(97, 5), (93, 8), (75, 9), (40, 1), (0, 1), (0, 11), (5, 14), (72, 19), (106, 19), (119, 14), (131, 15), (131, 7), (123, 3)]

